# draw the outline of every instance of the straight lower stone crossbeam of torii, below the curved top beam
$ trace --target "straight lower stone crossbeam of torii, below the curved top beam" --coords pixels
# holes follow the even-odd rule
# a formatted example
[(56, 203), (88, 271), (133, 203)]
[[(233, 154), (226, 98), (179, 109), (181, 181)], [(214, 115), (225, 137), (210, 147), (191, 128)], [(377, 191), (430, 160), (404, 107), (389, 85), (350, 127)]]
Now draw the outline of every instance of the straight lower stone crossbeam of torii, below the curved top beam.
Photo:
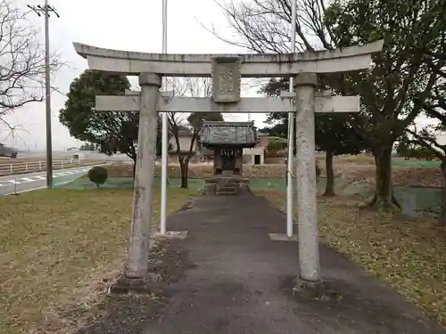
[[(161, 94), (162, 95), (162, 94)], [(96, 96), (95, 110), (98, 111), (137, 111), (137, 95)], [(168, 97), (159, 102), (160, 112), (223, 112), (223, 113), (268, 113), (295, 111), (293, 99), (274, 97), (245, 97), (236, 104), (216, 104), (207, 97)], [(315, 111), (358, 112), (359, 96), (317, 96)]]

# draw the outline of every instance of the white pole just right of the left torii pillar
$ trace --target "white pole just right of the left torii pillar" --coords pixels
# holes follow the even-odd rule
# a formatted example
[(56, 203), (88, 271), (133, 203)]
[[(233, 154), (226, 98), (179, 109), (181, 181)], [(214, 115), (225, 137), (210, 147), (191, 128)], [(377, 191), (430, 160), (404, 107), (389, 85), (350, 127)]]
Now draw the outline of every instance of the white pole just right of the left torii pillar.
[[(167, 53), (167, 0), (162, 0), (162, 53)], [(166, 78), (162, 77), (162, 86), (166, 87)], [(161, 222), (160, 233), (166, 233), (167, 218), (167, 173), (168, 173), (168, 115), (161, 113)]]

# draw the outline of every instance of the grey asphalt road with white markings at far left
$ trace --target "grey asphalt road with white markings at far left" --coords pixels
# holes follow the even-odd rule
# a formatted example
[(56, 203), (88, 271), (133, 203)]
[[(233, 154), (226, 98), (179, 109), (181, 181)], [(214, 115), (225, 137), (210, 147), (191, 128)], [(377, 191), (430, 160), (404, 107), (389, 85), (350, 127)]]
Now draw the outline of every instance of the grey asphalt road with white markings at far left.
[[(85, 174), (91, 166), (58, 169), (53, 172), (54, 186), (69, 183)], [(15, 192), (33, 191), (46, 187), (46, 172), (21, 175), (6, 175), (0, 177), (0, 196), (11, 195)]]

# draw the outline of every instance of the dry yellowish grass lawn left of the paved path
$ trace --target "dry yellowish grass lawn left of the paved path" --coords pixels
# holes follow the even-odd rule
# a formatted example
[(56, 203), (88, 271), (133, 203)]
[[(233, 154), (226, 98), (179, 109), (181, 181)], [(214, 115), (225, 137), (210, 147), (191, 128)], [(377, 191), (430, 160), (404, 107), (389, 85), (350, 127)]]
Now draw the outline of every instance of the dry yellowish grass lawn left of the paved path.
[[(190, 194), (169, 191), (169, 211)], [(131, 199), (131, 190), (66, 189), (0, 199), (1, 334), (26, 332), (54, 305), (85, 304), (103, 278), (120, 272)], [(155, 195), (155, 217), (159, 207)]]

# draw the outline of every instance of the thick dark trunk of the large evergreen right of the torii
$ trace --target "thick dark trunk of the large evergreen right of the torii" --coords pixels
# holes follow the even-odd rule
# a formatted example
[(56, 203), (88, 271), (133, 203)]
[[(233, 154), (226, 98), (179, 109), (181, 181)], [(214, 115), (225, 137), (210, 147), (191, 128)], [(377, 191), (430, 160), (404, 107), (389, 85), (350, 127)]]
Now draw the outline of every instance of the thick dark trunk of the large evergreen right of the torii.
[(392, 144), (379, 146), (374, 150), (376, 166), (375, 196), (370, 203), (374, 208), (401, 208), (398, 200), (393, 196), (392, 187)]

